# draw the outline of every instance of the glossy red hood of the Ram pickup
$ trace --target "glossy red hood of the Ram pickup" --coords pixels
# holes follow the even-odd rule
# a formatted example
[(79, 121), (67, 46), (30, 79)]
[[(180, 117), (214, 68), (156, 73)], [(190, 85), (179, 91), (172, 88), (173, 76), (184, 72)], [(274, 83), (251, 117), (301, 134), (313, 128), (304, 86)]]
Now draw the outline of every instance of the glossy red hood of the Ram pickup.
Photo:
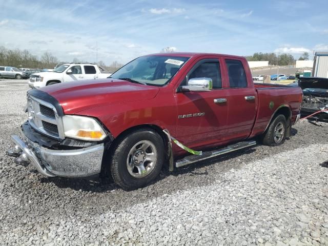
[(158, 87), (120, 79), (90, 79), (46, 86), (40, 90), (56, 98), (66, 114), (104, 105), (154, 98)]

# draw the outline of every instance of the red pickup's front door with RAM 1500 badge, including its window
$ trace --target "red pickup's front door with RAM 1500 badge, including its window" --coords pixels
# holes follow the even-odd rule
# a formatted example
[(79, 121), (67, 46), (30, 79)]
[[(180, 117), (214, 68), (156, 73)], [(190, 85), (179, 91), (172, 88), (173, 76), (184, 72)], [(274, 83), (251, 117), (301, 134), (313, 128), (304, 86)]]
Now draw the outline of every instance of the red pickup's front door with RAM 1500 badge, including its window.
[(188, 72), (181, 85), (191, 78), (212, 78), (213, 89), (206, 92), (177, 92), (177, 136), (189, 148), (224, 141), (227, 128), (227, 91), (222, 89), (219, 59), (202, 59)]

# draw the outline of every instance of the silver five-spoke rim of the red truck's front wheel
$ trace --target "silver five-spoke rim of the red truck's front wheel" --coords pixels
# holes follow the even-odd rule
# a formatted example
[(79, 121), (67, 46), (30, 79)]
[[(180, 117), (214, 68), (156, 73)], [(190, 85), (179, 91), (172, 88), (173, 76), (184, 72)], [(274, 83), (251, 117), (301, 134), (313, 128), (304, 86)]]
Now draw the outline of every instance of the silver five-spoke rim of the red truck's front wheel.
[(130, 150), (127, 169), (134, 178), (143, 178), (150, 174), (156, 164), (157, 150), (149, 140), (138, 141)]

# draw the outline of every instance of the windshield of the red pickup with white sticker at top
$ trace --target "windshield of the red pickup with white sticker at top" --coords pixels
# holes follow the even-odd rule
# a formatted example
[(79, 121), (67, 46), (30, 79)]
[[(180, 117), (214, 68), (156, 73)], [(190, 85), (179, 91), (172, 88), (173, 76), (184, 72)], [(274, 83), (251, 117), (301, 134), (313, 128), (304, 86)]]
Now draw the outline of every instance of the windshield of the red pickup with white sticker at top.
[(141, 56), (111, 75), (134, 83), (163, 86), (177, 73), (189, 57)]

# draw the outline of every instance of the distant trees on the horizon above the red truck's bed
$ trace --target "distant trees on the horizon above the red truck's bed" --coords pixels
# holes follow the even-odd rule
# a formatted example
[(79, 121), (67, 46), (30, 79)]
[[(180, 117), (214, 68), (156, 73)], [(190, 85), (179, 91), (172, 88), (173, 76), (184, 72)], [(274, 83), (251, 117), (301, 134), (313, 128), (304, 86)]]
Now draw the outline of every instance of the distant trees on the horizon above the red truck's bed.
[[(278, 65), (278, 66), (295, 65), (294, 56), (291, 54), (285, 54), (285, 53), (276, 55), (275, 53), (256, 52), (251, 56), (245, 56), (245, 57), (248, 61), (268, 60), (269, 65)], [(304, 52), (299, 59), (300, 60), (308, 60), (309, 53)]]

